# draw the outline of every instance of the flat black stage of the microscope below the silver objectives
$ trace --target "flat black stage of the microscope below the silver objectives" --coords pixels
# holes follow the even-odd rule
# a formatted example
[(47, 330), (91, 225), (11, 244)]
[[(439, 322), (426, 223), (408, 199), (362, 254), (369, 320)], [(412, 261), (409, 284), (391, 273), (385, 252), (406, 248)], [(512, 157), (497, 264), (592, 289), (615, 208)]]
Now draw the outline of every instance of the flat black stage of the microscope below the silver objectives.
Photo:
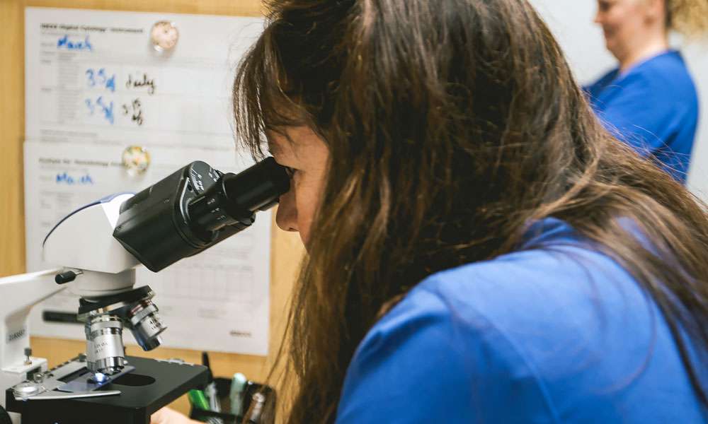
[(135, 370), (101, 390), (117, 396), (84, 399), (17, 401), (6, 391), (6, 409), (21, 413), (22, 424), (149, 424), (150, 416), (190, 389), (207, 384), (207, 368), (164, 360), (126, 359)]

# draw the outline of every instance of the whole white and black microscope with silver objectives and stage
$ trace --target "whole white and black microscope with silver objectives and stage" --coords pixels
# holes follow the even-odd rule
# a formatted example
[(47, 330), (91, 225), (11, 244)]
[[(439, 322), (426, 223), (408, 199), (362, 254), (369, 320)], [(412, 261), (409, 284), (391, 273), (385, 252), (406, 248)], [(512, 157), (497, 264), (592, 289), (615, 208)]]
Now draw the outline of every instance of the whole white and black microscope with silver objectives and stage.
[[(123, 331), (151, 351), (167, 328), (153, 291), (134, 288), (135, 267), (158, 272), (216, 245), (288, 189), (273, 158), (239, 174), (195, 161), (142, 192), (108, 196), (60, 220), (42, 245), (57, 268), (0, 278), (0, 424), (146, 424), (206, 384), (201, 365), (126, 357)], [(28, 314), (67, 286), (80, 296), (86, 353), (49, 369), (28, 349)]]

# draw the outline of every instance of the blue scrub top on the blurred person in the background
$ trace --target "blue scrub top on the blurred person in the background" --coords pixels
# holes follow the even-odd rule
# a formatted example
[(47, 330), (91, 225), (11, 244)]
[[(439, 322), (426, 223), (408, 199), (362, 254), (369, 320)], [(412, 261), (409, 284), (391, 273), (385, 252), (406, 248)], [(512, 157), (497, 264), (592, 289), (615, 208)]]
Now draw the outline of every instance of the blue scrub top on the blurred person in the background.
[(698, 96), (681, 54), (659, 54), (585, 88), (603, 125), (641, 155), (653, 154), (685, 183), (698, 122)]

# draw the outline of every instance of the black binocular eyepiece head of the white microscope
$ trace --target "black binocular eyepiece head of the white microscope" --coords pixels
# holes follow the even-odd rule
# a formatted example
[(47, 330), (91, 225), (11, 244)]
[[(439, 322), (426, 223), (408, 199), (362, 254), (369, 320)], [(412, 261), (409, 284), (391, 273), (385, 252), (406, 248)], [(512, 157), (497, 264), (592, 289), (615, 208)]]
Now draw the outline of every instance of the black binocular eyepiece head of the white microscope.
[(157, 272), (249, 227), (288, 189), (273, 158), (239, 174), (195, 161), (125, 201), (113, 237)]

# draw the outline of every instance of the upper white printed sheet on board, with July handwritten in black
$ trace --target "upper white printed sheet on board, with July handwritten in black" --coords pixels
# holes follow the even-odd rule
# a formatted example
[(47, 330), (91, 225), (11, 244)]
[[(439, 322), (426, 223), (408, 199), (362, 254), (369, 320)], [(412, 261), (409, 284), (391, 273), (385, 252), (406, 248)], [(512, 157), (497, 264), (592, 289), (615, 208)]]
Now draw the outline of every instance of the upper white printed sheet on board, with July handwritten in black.
[[(25, 25), (28, 139), (233, 148), (234, 69), (261, 32), (261, 19), (47, 8), (27, 13), (28, 19), (40, 16)], [(159, 54), (149, 33), (165, 19), (182, 36), (172, 52)]]

